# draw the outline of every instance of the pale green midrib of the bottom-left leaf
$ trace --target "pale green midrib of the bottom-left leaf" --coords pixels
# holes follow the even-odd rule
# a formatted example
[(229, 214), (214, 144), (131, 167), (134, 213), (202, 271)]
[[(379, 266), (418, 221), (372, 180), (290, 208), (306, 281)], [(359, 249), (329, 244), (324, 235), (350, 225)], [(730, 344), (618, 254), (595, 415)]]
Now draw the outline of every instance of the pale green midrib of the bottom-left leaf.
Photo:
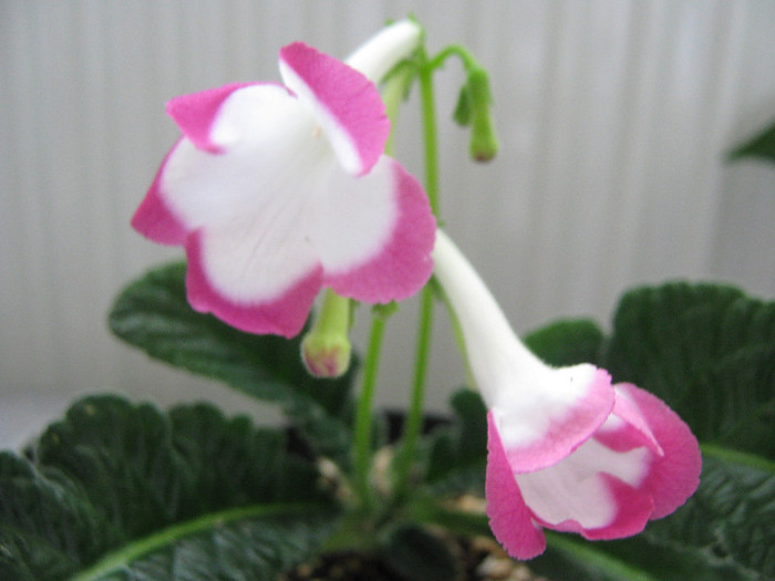
[(125, 569), (130, 563), (132, 563), (132, 561), (135, 561), (145, 554), (152, 553), (168, 544), (173, 544), (185, 537), (205, 532), (208, 529), (214, 529), (228, 522), (261, 517), (281, 517), (293, 515), (303, 515), (309, 517), (313, 513), (324, 516), (327, 513), (333, 515), (334, 511), (331, 505), (323, 502), (283, 502), (271, 505), (251, 505), (247, 507), (211, 512), (179, 525), (167, 527), (166, 529), (154, 535), (135, 540), (117, 551), (107, 553), (89, 569), (85, 569), (71, 577), (70, 581), (99, 580), (112, 571)]

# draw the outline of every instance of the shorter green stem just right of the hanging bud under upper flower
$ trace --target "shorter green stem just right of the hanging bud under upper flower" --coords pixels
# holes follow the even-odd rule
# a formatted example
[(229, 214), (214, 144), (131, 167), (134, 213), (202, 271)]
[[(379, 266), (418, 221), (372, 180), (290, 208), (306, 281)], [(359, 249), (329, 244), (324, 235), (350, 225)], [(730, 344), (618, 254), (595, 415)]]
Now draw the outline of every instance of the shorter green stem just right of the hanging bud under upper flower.
[(374, 405), (374, 387), (376, 385), (384, 331), (385, 318), (379, 313), (372, 314), (369, 351), (363, 370), (363, 385), (361, 386), (361, 395), (358, 400), (358, 409), (355, 412), (354, 486), (362, 508), (366, 511), (371, 510), (373, 506), (372, 491), (369, 484), (372, 448), (372, 407)]

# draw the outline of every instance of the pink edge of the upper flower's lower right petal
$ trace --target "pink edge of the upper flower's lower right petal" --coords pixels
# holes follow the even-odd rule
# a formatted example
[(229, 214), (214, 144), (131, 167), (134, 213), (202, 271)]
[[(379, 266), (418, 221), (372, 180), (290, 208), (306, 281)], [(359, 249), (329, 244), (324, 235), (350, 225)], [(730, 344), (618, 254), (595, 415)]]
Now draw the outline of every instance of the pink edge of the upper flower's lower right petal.
[(436, 220), (420, 183), (389, 159), (399, 211), (395, 229), (379, 255), (342, 273), (327, 273), (323, 283), (343, 295), (370, 303), (402, 300), (417, 292), (433, 273), (431, 251)]

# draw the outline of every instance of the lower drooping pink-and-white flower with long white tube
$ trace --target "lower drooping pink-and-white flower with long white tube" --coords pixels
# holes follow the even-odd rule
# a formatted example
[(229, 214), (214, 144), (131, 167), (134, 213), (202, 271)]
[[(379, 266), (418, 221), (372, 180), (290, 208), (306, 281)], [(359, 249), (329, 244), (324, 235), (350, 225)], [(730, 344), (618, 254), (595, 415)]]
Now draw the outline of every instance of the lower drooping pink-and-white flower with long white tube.
[(694, 492), (700, 449), (672, 409), (634, 385), (611, 385), (593, 365), (546, 365), (442, 231), (433, 256), (489, 408), (487, 515), (512, 557), (541, 553), (542, 527), (636, 535)]

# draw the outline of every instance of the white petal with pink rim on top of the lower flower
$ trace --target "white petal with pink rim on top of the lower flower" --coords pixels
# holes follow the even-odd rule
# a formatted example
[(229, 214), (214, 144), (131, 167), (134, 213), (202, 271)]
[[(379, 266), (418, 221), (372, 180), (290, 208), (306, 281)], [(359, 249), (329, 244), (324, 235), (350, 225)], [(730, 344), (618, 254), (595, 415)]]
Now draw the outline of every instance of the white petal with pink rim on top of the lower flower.
[(583, 444), (606, 421), (614, 403), (611, 378), (581, 364), (515, 373), (515, 387), (504, 390), (493, 417), (515, 474), (556, 464)]

